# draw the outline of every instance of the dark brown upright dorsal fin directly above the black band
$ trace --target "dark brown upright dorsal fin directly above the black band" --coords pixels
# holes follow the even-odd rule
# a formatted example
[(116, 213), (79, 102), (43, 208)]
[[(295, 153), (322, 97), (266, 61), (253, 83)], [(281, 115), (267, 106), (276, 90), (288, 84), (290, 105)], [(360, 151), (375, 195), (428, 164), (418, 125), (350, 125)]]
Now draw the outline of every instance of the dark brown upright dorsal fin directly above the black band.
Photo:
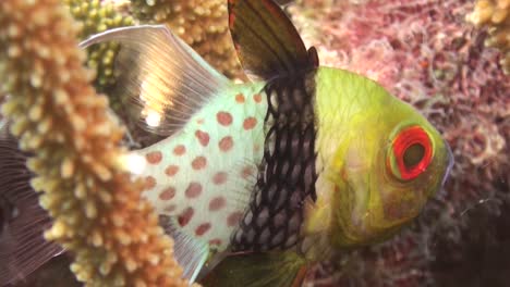
[(271, 79), (318, 65), (292, 22), (272, 0), (230, 0), (229, 27), (235, 50), (252, 78)]

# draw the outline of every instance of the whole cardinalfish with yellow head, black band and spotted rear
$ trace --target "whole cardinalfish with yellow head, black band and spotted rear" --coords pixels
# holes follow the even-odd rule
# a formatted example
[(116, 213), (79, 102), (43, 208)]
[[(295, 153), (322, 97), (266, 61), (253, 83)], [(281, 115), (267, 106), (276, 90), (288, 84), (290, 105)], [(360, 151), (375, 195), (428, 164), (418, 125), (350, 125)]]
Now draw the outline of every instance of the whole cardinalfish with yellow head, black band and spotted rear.
[(175, 240), (191, 282), (296, 286), (332, 252), (378, 242), (415, 219), (452, 157), (411, 105), (377, 83), (319, 65), (281, 8), (230, 0), (252, 82), (235, 84), (165, 26), (108, 30), (120, 95), (167, 138), (124, 159)]

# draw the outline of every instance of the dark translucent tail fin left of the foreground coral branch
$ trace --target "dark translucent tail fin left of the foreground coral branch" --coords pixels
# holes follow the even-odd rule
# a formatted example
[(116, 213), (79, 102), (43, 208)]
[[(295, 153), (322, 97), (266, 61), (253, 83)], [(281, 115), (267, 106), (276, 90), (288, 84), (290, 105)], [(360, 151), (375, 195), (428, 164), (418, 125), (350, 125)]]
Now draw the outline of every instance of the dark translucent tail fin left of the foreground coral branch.
[(62, 249), (42, 233), (50, 219), (32, 189), (26, 155), (0, 127), (0, 285), (23, 280)]

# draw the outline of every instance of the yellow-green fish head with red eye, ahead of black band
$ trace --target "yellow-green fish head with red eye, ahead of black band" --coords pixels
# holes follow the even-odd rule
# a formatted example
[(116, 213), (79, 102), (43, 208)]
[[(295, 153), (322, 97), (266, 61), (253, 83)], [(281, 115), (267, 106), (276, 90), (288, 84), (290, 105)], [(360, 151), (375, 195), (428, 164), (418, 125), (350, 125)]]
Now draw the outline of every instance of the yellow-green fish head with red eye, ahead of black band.
[(449, 147), (417, 111), (367, 78), (321, 67), (316, 85), (317, 194), (328, 198), (318, 204), (328, 207), (331, 242), (384, 240), (441, 188)]

